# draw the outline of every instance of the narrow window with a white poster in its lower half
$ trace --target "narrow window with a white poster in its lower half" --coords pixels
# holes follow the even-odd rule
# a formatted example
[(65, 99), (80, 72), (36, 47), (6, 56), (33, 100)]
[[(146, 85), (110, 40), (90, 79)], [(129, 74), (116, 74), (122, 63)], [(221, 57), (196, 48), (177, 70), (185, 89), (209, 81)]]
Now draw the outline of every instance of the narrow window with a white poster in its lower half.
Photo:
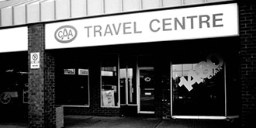
[(119, 106), (119, 81), (117, 56), (102, 57), (101, 63), (101, 101), (103, 107)]

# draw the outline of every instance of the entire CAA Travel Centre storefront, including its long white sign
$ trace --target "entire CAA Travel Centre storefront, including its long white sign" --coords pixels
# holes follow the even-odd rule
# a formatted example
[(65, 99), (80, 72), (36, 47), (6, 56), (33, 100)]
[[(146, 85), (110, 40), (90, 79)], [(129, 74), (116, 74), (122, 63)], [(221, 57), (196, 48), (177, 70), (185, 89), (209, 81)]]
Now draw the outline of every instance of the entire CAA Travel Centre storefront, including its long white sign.
[(237, 4), (223, 4), (47, 23), (56, 104), (69, 114), (238, 117), (237, 22)]

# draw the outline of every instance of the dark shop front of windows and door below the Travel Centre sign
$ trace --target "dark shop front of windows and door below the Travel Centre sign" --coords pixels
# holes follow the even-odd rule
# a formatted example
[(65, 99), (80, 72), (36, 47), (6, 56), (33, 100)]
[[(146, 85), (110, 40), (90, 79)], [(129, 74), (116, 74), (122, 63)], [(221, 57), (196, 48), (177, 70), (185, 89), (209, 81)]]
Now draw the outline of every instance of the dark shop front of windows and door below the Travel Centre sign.
[[(237, 43), (237, 38), (182, 40), (171, 47), (168, 41), (51, 50), (56, 54), (56, 103), (69, 114), (162, 116), (171, 103), (165, 109), (173, 118), (237, 116), (238, 105), (231, 100), (239, 99), (237, 54), (227, 53), (223, 42)], [(211, 47), (201, 47), (206, 44)], [(205, 78), (196, 79), (199, 73)], [(109, 108), (121, 112), (105, 112)]]

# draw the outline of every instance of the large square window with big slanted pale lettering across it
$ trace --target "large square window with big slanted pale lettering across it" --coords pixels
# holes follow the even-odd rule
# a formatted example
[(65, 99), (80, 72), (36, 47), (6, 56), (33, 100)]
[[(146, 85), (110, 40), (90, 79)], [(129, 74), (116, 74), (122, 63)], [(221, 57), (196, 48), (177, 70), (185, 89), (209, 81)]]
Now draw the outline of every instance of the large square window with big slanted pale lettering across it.
[(173, 62), (172, 115), (224, 116), (225, 64), (218, 54)]

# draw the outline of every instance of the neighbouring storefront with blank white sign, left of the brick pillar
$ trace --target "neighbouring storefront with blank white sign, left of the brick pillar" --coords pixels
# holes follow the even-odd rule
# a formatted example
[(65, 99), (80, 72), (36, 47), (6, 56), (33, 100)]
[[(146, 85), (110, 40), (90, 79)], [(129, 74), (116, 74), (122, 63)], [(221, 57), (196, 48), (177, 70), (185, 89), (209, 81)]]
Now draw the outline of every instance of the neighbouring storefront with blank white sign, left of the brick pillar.
[[(2, 29), (0, 35), (0, 122), (26, 119), (29, 74), (27, 27)], [(9, 35), (15, 38), (10, 39)]]

